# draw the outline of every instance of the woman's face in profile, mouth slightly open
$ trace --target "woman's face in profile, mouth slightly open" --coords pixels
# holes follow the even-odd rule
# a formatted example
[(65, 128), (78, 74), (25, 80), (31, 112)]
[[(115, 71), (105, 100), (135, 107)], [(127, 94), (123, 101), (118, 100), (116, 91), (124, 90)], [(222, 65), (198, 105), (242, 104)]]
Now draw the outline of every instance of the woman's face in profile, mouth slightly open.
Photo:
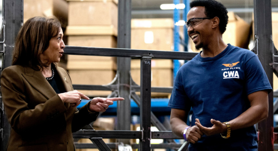
[(63, 41), (63, 31), (60, 27), (60, 32), (56, 37), (52, 37), (49, 43), (49, 47), (42, 54), (40, 59), (42, 63), (59, 62), (64, 53), (65, 43)]

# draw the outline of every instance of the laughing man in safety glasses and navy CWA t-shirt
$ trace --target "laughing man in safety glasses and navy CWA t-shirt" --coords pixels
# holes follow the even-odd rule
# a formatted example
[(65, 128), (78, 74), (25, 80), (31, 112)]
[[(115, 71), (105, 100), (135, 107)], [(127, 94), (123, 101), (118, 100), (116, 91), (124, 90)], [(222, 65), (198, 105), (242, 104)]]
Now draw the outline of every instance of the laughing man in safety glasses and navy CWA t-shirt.
[[(171, 128), (189, 150), (257, 150), (254, 124), (268, 116), (272, 88), (258, 57), (224, 43), (226, 8), (214, 0), (190, 4), (188, 35), (202, 51), (177, 72), (168, 106)], [(192, 126), (186, 124), (192, 107)]]

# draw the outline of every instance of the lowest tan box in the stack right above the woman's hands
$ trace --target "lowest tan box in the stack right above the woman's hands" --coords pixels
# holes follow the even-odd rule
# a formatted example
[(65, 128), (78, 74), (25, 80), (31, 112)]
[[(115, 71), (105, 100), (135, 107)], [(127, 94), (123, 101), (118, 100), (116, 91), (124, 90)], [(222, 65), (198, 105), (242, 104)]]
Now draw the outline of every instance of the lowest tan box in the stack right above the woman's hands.
[[(69, 70), (72, 84), (76, 85), (107, 85), (115, 78), (114, 70)], [(111, 91), (80, 90), (88, 97), (107, 97)]]

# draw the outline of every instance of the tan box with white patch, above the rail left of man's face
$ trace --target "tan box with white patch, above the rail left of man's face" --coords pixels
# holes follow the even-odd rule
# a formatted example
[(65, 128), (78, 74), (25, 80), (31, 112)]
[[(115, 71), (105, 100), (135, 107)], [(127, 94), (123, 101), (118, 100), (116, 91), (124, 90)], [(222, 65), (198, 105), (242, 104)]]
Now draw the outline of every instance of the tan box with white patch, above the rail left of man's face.
[(173, 50), (173, 19), (132, 19), (131, 49)]

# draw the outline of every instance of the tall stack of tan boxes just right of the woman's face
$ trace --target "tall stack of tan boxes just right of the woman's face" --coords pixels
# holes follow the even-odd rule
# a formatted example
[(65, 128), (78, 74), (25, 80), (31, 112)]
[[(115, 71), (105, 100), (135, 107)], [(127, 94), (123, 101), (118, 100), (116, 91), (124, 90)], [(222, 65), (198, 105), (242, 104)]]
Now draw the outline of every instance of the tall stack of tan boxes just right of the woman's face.
[[(68, 0), (68, 45), (117, 47), (117, 1)], [(106, 85), (115, 78), (116, 59), (105, 56), (68, 55), (67, 69), (73, 84)], [(106, 97), (110, 91), (80, 91)]]

